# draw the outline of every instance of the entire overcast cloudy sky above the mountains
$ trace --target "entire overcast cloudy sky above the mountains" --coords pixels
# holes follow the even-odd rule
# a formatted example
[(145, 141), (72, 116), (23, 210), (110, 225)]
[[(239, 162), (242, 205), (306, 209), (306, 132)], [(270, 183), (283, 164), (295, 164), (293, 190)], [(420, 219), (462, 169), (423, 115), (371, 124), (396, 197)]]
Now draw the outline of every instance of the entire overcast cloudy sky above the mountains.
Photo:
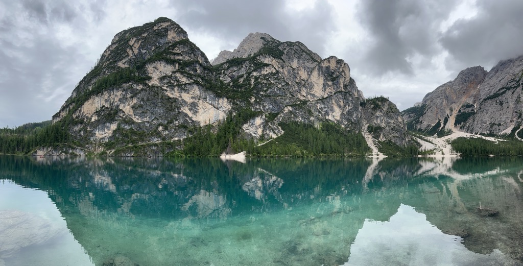
[(0, 128), (50, 120), (116, 33), (158, 17), (212, 60), (249, 32), (335, 55), (400, 110), (523, 54), (521, 0), (0, 0)]

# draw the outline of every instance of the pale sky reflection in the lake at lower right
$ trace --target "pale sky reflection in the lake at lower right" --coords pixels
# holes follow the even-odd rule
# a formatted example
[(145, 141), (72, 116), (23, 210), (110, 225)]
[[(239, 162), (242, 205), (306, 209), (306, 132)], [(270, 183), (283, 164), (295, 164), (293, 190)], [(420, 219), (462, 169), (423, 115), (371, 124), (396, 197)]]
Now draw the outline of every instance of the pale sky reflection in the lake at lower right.
[[(511, 261), (495, 249), (474, 253), (459, 236), (446, 235), (413, 207), (400, 205), (389, 221), (365, 220), (350, 246), (349, 265), (495, 265)], [(372, 256), (369, 256), (372, 254)]]

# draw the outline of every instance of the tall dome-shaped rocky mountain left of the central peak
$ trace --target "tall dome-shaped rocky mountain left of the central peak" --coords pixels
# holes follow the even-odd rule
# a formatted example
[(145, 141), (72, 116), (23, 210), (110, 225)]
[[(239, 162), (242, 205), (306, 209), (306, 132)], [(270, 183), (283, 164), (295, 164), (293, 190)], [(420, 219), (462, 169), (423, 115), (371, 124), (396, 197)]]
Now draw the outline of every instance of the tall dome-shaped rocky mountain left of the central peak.
[(53, 122), (66, 121), (94, 153), (178, 140), (191, 126), (229, 113), (229, 100), (207, 89), (214, 80), (206, 55), (185, 30), (159, 18), (116, 34)]

